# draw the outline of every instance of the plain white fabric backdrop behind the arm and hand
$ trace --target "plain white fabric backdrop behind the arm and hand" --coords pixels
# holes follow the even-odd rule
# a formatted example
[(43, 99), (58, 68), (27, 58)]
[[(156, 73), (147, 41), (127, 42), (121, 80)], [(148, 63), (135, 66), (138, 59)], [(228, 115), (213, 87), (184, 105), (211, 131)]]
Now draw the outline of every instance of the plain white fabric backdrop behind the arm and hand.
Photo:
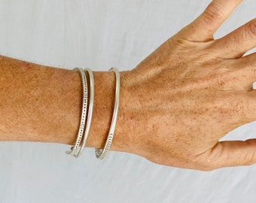
[[(134, 68), (194, 20), (209, 0), (0, 0), (0, 54), (62, 68)], [(255, 17), (236, 9), (219, 38)], [(1, 85), (1, 84), (0, 84)], [(15, 119), (15, 118), (14, 118)], [(0, 124), (1, 125), (1, 124)], [(226, 139), (256, 138), (249, 123)], [(155, 165), (126, 153), (80, 159), (59, 144), (0, 143), (0, 202), (255, 202), (256, 166), (211, 172)]]

